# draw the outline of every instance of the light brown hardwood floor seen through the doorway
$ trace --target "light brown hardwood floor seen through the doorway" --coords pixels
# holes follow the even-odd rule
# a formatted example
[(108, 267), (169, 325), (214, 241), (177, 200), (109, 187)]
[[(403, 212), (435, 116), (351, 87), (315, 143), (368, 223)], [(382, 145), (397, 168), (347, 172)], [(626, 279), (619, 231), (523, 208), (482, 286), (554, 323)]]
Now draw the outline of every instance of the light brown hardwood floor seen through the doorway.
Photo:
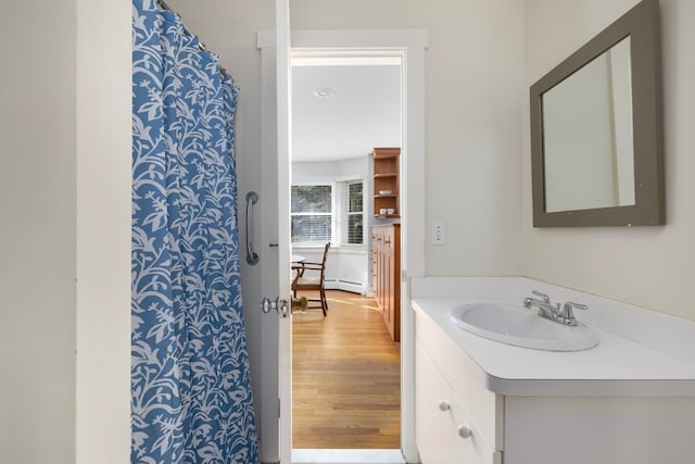
[(401, 448), (401, 360), (374, 299), (328, 291), (292, 321), (292, 448)]

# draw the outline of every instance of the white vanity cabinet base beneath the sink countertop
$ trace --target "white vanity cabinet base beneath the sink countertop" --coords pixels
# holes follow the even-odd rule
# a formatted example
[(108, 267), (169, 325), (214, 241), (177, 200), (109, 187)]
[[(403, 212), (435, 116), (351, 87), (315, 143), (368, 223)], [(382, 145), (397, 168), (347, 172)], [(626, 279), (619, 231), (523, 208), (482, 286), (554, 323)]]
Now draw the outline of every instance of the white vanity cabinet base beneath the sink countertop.
[[(693, 462), (692, 397), (500, 394), (419, 311), (415, 333), (416, 444), (424, 464)], [(571, 362), (572, 353), (558, 355)], [(462, 426), (469, 437), (459, 435)]]

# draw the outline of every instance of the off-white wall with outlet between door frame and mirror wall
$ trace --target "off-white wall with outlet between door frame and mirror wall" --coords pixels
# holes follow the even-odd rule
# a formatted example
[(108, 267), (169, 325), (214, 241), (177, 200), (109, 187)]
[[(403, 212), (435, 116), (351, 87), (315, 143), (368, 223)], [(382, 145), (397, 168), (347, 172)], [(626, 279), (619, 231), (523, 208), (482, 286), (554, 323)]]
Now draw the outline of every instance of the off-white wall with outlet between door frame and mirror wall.
[(292, 27), (422, 28), (426, 274), (520, 272), (521, 0), (292, 0)]

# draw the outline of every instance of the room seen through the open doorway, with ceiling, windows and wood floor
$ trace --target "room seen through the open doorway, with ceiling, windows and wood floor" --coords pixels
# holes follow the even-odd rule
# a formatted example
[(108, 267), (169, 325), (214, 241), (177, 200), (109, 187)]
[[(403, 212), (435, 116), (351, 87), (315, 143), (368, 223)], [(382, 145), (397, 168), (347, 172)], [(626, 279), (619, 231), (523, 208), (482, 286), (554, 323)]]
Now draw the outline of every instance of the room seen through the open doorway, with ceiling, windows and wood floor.
[(374, 211), (370, 153), (403, 145), (402, 58), (292, 53), (291, 251), (320, 262), (331, 242), (328, 316), (292, 317), (294, 449), (401, 448), (400, 347), (370, 298), (370, 229), (384, 223)]

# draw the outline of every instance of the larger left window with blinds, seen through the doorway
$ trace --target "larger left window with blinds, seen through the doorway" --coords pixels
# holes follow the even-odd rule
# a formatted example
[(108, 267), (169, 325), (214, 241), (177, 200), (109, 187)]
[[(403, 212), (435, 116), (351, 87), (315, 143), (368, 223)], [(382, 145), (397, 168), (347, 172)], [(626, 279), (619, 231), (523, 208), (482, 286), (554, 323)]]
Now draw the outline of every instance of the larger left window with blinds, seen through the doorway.
[(292, 243), (331, 241), (332, 186), (295, 185), (291, 196)]

